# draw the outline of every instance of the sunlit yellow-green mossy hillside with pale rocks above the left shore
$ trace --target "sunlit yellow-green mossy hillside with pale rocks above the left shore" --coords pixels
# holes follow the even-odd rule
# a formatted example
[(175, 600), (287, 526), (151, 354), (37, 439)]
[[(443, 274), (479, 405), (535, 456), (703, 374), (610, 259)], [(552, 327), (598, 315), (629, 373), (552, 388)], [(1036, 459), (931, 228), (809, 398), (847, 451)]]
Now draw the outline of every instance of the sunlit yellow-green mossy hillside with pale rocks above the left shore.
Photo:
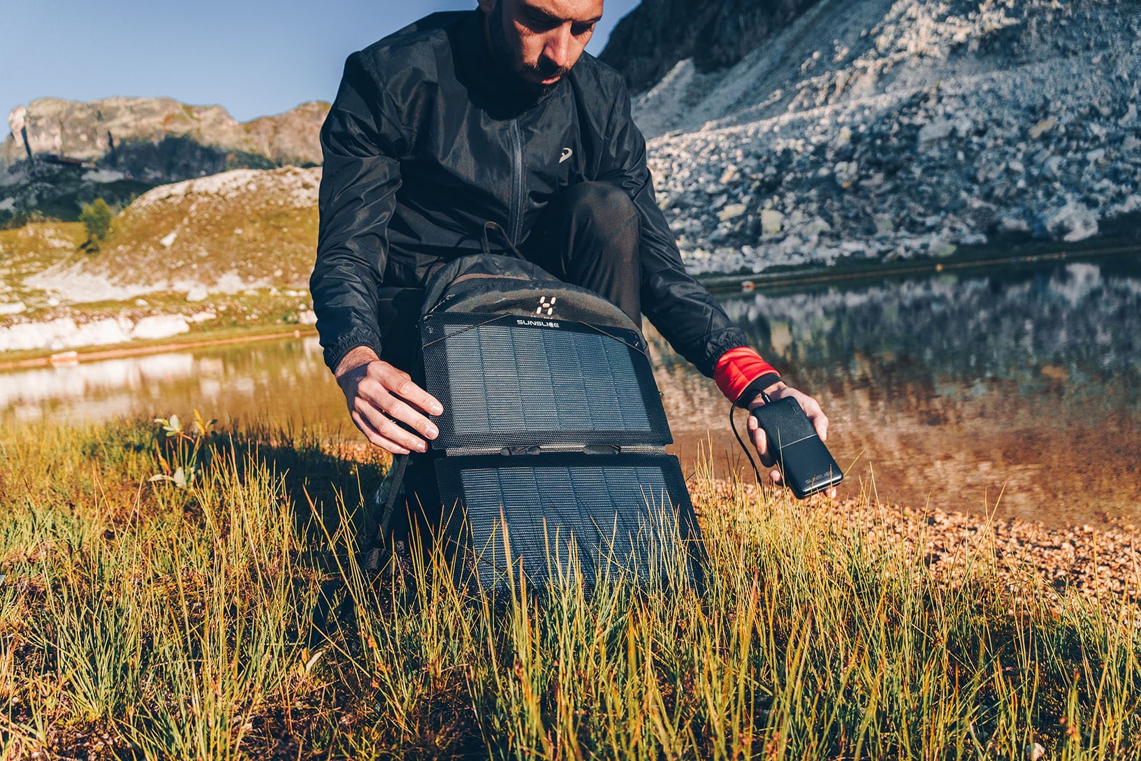
[(192, 333), (304, 324), (319, 181), (319, 169), (238, 170), (163, 186), (118, 213), (97, 251), (78, 222), (2, 229), (0, 326), (153, 315), (181, 315)]

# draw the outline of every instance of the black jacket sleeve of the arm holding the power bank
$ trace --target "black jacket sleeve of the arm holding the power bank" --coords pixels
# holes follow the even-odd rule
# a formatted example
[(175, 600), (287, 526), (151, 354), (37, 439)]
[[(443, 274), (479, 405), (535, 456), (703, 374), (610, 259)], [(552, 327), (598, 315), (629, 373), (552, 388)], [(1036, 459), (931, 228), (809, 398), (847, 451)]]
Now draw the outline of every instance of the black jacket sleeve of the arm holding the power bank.
[(745, 346), (745, 333), (681, 262), (673, 233), (654, 197), (654, 183), (646, 167), (646, 139), (630, 115), (625, 86), (615, 95), (604, 145), (607, 162), (598, 179), (625, 189), (641, 220), (642, 310), (674, 350), (712, 378), (721, 355)]

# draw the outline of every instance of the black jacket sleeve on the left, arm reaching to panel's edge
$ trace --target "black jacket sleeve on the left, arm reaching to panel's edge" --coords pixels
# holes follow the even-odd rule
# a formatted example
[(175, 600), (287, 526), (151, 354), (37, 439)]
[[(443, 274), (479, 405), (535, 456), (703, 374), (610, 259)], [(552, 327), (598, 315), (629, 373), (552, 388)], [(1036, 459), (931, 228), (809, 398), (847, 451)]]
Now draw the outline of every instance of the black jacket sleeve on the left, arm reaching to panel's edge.
[(321, 129), (321, 228), (309, 278), (330, 370), (358, 346), (381, 350), (378, 289), (400, 187), (398, 156), (406, 147), (396, 113), (366, 54), (349, 56)]

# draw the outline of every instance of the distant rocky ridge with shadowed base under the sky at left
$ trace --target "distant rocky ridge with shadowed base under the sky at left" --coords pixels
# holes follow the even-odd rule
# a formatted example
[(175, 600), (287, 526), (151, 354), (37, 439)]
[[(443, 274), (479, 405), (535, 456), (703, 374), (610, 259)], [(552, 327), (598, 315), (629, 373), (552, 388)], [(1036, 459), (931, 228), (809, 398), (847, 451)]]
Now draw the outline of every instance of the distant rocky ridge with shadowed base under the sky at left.
[(321, 163), (329, 104), (238, 122), (170, 98), (33, 100), (9, 114), (0, 149), (0, 222), (75, 219), (96, 196), (116, 207), (160, 184), (229, 169)]

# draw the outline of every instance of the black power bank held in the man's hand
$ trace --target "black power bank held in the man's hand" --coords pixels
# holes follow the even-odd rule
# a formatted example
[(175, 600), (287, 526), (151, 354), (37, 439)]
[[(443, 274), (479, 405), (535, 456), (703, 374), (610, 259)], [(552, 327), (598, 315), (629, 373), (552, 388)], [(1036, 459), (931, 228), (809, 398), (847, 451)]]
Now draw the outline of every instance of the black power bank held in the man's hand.
[(769, 437), (769, 452), (796, 499), (803, 500), (844, 479), (843, 471), (796, 399), (791, 396), (775, 399), (755, 407), (752, 415)]

